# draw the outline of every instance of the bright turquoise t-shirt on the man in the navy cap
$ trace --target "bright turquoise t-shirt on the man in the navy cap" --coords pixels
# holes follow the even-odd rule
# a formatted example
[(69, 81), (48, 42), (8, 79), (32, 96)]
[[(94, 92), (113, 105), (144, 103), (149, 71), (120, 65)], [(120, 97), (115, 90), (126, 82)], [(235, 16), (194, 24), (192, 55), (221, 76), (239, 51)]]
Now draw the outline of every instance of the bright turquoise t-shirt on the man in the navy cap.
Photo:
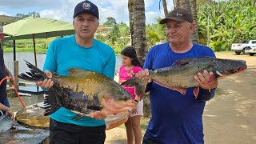
[[(115, 54), (114, 50), (105, 43), (94, 39), (91, 47), (82, 47), (75, 41), (75, 36), (55, 39), (50, 43), (46, 54), (46, 62), (43, 70), (57, 72), (60, 75), (67, 75), (67, 70), (76, 67), (83, 70), (95, 71), (114, 78)], [(78, 126), (102, 126), (104, 120), (84, 117), (78, 120), (77, 114), (64, 107), (50, 114), (50, 118), (58, 122), (75, 124)]]

